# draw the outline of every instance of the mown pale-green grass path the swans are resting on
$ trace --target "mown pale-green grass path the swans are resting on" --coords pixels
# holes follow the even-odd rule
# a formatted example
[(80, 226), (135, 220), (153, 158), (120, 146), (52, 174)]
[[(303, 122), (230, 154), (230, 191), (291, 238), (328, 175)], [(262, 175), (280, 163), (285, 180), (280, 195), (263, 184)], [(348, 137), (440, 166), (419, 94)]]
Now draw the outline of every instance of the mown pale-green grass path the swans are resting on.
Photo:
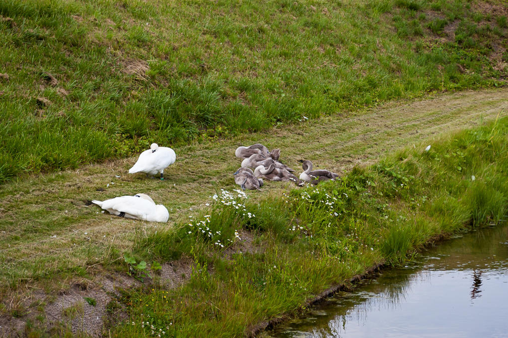
[[(356, 164), (376, 163), (385, 152), (418, 144), (444, 130), (483, 124), (508, 109), (505, 98), (505, 89), (438, 96), (350, 118), (330, 116), (279, 126), (269, 133), (182, 146), (176, 148), (177, 162), (168, 168), (163, 182), (126, 174), (134, 158), (15, 179), (0, 191), (0, 246), (4, 248), (0, 291), (10, 297), (26, 285), (58, 290), (59, 281), (78, 276), (93, 278), (105, 269), (105, 273), (110, 269), (123, 273), (125, 265), (110, 264), (123, 262), (122, 253), (132, 251), (137, 236), (155, 227), (172, 227), (188, 220), (189, 214), (197, 216), (220, 188), (238, 188), (231, 175), (239, 166), (233, 156), (238, 145), (261, 141), (270, 148), (280, 147), (281, 159), (297, 172), (298, 161), (304, 159), (311, 159), (317, 168), (341, 172)], [(267, 183), (263, 189), (263, 194), (248, 192), (249, 198), (257, 200), (269, 192), (279, 196), (291, 186)], [(168, 225), (125, 221), (88, 205), (91, 199), (139, 192), (168, 207)]]

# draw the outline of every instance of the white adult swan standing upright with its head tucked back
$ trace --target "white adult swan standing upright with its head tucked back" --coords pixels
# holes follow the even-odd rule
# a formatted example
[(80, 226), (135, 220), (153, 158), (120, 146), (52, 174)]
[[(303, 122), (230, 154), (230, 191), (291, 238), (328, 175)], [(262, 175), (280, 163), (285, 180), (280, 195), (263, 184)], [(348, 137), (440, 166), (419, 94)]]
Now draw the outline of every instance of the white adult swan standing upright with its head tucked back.
[(175, 151), (168, 147), (160, 147), (157, 143), (152, 143), (150, 149), (143, 151), (138, 158), (136, 164), (129, 169), (130, 174), (136, 172), (144, 172), (147, 175), (161, 174), (164, 179), (164, 169), (170, 164), (175, 163)]

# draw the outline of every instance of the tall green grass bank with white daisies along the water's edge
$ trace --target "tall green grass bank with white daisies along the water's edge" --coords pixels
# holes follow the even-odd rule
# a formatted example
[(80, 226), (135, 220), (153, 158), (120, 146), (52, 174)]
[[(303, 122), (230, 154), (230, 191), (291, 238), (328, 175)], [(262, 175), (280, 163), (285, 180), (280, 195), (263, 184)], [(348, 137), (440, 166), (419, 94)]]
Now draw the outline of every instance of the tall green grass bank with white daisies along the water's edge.
[(202, 216), (138, 236), (136, 262), (184, 255), (193, 274), (176, 289), (127, 291), (129, 319), (111, 335), (248, 335), (376, 263), (396, 266), (439, 238), (497, 223), (508, 209), (507, 141), (502, 117), (283, 196), (253, 203), (221, 191)]

